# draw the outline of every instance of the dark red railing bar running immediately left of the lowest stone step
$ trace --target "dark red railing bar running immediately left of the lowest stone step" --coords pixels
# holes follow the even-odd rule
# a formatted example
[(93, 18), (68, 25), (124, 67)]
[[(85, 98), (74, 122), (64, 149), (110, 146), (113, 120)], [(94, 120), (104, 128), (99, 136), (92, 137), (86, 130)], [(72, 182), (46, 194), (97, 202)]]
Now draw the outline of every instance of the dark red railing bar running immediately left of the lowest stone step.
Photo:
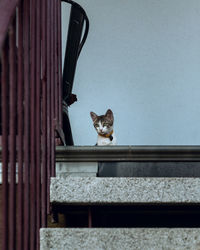
[(36, 1), (36, 249), (39, 250), (41, 202), (41, 1)]

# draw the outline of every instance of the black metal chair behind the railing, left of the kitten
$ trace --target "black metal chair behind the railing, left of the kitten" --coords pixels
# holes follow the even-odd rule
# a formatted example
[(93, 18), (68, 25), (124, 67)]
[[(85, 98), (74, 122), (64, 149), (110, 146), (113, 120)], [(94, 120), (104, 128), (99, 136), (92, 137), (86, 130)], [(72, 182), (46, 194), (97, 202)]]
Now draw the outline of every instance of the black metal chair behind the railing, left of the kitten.
[[(72, 138), (72, 131), (68, 117), (68, 106), (77, 101), (76, 95), (72, 94), (72, 88), (73, 88), (77, 60), (81, 53), (83, 45), (87, 39), (89, 31), (89, 20), (85, 13), (85, 10), (79, 4), (70, 0), (63, 0), (63, 2), (72, 5), (69, 27), (68, 27), (67, 44), (65, 50), (63, 78), (62, 78), (63, 132), (65, 135), (66, 145), (73, 145), (74, 143)], [(84, 27), (85, 27), (85, 32), (82, 36)]]

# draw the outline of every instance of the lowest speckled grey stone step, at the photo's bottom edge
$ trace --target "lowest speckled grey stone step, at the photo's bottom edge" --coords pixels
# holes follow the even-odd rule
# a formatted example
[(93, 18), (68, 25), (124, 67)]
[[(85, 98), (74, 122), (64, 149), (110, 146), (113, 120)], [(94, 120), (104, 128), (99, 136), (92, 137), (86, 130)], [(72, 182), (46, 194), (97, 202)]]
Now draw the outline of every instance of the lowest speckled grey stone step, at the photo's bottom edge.
[(41, 229), (40, 250), (200, 250), (200, 229)]

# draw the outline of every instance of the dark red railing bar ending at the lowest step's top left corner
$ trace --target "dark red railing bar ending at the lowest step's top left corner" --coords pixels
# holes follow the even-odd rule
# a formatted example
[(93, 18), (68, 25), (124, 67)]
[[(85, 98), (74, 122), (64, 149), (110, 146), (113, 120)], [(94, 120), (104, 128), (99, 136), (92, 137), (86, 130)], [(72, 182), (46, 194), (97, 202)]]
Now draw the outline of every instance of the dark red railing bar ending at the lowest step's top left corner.
[(42, 192), (41, 226), (46, 227), (47, 211), (47, 0), (42, 2)]

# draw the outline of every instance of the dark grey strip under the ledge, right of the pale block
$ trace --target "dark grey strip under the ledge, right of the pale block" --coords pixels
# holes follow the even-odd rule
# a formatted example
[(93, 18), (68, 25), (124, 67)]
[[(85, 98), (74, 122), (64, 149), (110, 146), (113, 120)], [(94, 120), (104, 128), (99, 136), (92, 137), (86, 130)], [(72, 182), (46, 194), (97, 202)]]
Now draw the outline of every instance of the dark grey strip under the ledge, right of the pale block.
[(99, 162), (99, 177), (200, 177), (199, 162)]

